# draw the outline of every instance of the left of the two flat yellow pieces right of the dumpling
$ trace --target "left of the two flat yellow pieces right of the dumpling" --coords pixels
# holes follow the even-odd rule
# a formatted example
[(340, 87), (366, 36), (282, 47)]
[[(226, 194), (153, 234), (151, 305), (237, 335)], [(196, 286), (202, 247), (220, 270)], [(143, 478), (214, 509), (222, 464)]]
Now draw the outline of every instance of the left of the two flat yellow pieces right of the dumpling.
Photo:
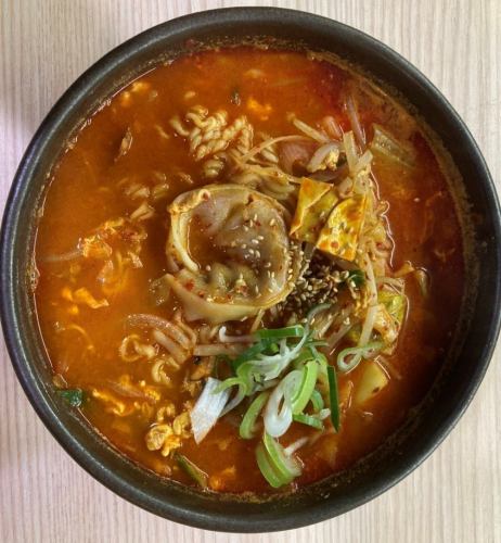
[(304, 177), (291, 226), (291, 236), (300, 241), (316, 243), (336, 202), (337, 195), (331, 184)]

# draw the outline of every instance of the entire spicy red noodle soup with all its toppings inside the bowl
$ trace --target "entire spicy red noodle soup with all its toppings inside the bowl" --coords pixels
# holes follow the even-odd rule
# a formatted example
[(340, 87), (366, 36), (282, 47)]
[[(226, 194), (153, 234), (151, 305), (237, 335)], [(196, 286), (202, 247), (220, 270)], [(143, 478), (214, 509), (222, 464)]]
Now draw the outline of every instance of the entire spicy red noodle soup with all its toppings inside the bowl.
[(59, 393), (185, 484), (266, 493), (350, 466), (423, 399), (459, 314), (433, 143), (321, 58), (241, 47), (156, 67), (88, 119), (43, 210)]

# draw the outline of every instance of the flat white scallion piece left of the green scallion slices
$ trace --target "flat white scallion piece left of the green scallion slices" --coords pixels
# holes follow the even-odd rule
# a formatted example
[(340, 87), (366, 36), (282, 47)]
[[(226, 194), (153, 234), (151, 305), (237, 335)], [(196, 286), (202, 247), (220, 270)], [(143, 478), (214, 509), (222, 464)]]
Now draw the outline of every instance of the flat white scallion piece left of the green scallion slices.
[(228, 402), (229, 389), (216, 392), (220, 384), (219, 379), (209, 377), (195, 406), (190, 412), (191, 428), (196, 444), (201, 443), (216, 425)]

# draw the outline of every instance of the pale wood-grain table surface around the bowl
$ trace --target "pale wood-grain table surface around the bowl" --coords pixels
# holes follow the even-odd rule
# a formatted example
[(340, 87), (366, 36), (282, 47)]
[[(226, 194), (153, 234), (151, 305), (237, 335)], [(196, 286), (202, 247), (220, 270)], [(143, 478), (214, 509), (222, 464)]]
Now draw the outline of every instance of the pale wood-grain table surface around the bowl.
[[(31, 135), (84, 70), (159, 22), (243, 4), (326, 15), (403, 54), (459, 111), (500, 187), (499, 0), (0, 0), (0, 210)], [(0, 339), (0, 542), (501, 542), (500, 362), (498, 348), (452, 434), (383, 496), (313, 527), (237, 535), (157, 518), (94, 481), (38, 420)]]

